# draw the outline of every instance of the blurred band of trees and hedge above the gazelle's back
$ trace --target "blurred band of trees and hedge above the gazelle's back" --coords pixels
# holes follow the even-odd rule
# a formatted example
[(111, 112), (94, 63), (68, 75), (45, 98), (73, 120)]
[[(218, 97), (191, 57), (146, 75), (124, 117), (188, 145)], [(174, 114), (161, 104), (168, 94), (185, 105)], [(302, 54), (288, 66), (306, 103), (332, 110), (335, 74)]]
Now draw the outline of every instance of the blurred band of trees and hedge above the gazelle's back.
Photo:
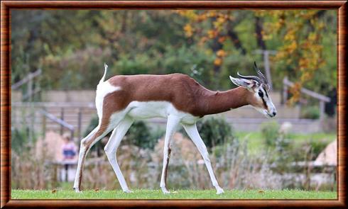
[(114, 74), (183, 72), (212, 89), (254, 74), (271, 57), (274, 88), (328, 94), (336, 86), (336, 11), (12, 11), (13, 82), (43, 69), (44, 89), (95, 89), (103, 62)]

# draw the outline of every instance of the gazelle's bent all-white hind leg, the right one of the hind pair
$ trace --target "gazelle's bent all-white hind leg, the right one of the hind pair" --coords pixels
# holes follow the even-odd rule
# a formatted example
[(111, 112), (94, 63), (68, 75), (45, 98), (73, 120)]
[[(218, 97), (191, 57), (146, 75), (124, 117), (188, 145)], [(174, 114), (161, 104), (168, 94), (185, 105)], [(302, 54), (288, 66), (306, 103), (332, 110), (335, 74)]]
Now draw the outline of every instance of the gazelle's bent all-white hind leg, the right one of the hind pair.
[(112, 169), (114, 169), (116, 177), (119, 180), (119, 184), (121, 185), (122, 190), (126, 193), (129, 193), (131, 191), (127, 186), (124, 175), (119, 168), (119, 164), (117, 163), (116, 152), (119, 148), (121, 140), (123, 139), (124, 135), (126, 135), (126, 132), (131, 127), (133, 121), (133, 119), (128, 117), (124, 118), (124, 120), (121, 120), (117, 128), (115, 128), (112, 132), (109, 142), (107, 142), (107, 145), (105, 145), (104, 147), (104, 150), (107, 153), (107, 158), (109, 159), (109, 162), (112, 165)]

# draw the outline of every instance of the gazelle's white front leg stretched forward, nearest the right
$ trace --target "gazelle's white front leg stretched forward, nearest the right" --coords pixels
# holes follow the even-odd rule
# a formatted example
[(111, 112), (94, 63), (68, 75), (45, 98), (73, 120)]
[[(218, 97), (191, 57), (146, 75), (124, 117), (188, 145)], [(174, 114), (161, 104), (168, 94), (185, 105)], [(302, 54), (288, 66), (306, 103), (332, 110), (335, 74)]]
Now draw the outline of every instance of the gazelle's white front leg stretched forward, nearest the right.
[(196, 124), (193, 124), (193, 125), (183, 124), (183, 127), (185, 128), (187, 135), (190, 136), (192, 142), (196, 145), (198, 151), (200, 151), (200, 154), (202, 155), (205, 161), (205, 166), (207, 166), (210, 179), (212, 180), (212, 185), (217, 189), (217, 194), (224, 193), (224, 190), (219, 186), (219, 183), (217, 183), (217, 179), (215, 178), (214, 171), (212, 170), (212, 164), (210, 163), (207, 147), (205, 147), (205, 143), (200, 137), (200, 133), (197, 130)]

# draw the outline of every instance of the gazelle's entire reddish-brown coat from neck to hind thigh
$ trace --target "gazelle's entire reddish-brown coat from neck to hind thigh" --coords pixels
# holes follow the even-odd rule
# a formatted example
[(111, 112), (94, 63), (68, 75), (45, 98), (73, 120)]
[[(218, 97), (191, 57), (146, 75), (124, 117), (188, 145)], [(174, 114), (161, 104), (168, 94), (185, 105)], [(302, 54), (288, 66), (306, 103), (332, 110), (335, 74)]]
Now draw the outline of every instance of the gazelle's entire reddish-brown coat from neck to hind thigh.
[(123, 110), (131, 101), (168, 101), (179, 111), (198, 117), (255, 101), (253, 94), (243, 87), (210, 91), (185, 74), (115, 76), (108, 81), (121, 89), (104, 97), (102, 123), (95, 135), (102, 135), (109, 125), (110, 115)]

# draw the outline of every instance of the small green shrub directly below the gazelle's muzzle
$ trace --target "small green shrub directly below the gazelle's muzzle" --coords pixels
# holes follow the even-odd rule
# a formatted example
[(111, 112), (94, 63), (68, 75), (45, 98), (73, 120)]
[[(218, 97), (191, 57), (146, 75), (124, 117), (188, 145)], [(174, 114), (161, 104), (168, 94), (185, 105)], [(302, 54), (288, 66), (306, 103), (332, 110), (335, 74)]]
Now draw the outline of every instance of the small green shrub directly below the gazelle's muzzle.
[(279, 124), (276, 121), (271, 123), (263, 123), (261, 125), (261, 135), (265, 140), (267, 147), (275, 147), (276, 140), (279, 137)]

